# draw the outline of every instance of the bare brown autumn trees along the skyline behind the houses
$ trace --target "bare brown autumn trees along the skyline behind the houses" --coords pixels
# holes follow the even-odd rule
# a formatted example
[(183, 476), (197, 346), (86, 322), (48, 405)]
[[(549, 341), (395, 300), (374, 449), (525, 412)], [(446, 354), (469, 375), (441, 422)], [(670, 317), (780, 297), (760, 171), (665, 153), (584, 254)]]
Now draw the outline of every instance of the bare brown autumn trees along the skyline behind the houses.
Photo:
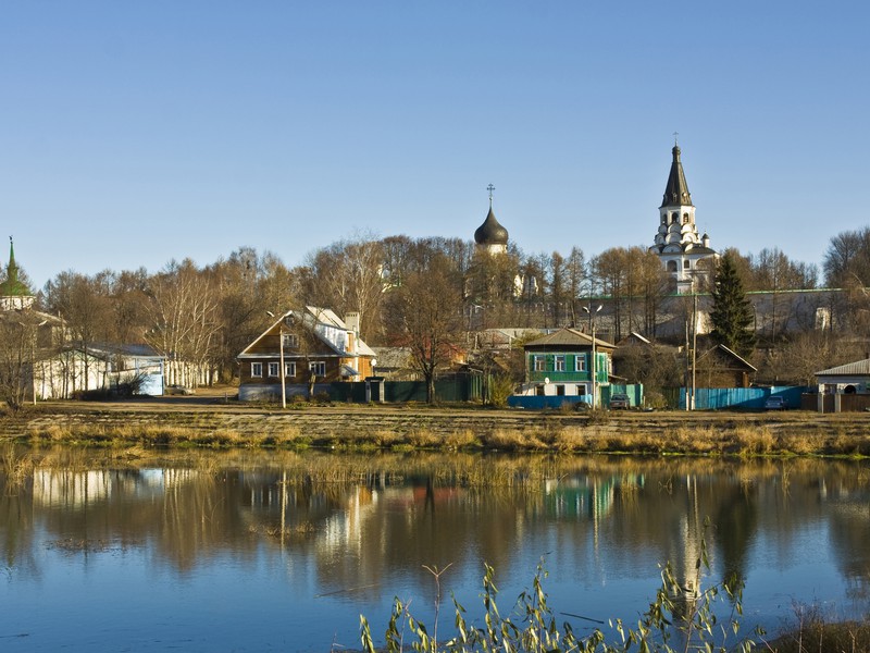
[[(779, 249), (732, 254), (746, 289), (817, 286), (815, 266)], [(823, 271), (829, 286), (862, 287), (870, 279), (870, 227), (835, 236)], [(62, 317), (69, 338), (84, 347), (147, 343), (199, 370), (185, 381), (208, 383), (236, 374), (235, 357), (269, 324), (266, 311), (294, 306), (358, 311), (370, 344), (410, 345), (434, 337), (433, 320), (448, 334), (579, 324), (591, 298), (607, 297), (618, 340), (629, 331), (655, 337), (659, 303), (671, 292), (660, 260), (643, 247), (586, 258), (579, 247), (530, 255), (513, 246), (492, 256), (459, 238), (359, 235), (293, 268), (272, 252), (243, 247), (203, 267), (170, 261), (157, 273), (65, 271), (46, 284), (38, 306)], [(430, 322), (422, 324), (426, 311)], [(183, 373), (170, 370), (171, 378)]]

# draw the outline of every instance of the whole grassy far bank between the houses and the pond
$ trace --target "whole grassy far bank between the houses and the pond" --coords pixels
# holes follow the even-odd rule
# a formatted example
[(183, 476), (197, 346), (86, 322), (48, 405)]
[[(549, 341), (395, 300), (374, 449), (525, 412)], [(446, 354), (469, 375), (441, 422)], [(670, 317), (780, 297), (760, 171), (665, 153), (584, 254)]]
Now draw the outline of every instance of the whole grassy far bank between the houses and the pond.
[(870, 417), (815, 412), (587, 414), (423, 406), (46, 404), (0, 438), (110, 447), (507, 451), (696, 456), (870, 456)]

